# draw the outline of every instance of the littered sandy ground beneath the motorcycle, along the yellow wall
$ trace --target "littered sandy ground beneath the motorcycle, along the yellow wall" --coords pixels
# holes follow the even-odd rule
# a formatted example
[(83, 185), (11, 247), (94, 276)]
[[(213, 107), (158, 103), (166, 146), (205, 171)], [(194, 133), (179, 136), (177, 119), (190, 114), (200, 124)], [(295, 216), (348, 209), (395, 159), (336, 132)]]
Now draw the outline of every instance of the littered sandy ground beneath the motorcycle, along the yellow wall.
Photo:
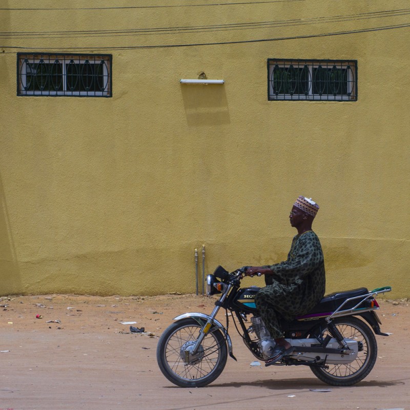
[[(1, 297), (0, 410), (410, 409), (407, 300), (380, 302), (382, 331), (392, 335), (377, 336), (376, 365), (355, 386), (327, 386), (304, 366), (251, 366), (232, 326), (238, 361), (228, 358), (207, 387), (176, 387), (157, 366), (158, 336), (176, 315), (210, 313), (213, 303), (200, 295)], [(134, 321), (146, 334), (121, 324)]]

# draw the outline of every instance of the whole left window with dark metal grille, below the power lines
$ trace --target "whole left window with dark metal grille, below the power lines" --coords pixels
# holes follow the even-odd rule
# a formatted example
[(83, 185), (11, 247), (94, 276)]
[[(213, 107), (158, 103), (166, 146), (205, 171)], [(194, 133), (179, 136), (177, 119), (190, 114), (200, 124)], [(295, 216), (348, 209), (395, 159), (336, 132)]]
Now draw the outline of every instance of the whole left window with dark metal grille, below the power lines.
[(17, 53), (17, 95), (111, 97), (112, 56)]

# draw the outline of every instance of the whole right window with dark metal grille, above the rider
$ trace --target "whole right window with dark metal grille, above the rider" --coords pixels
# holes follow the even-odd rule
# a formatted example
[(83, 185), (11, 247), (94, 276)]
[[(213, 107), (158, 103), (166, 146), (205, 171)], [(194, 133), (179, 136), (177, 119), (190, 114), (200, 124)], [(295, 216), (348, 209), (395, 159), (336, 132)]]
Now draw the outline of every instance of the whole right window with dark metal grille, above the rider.
[(268, 59), (268, 99), (356, 101), (356, 60)]

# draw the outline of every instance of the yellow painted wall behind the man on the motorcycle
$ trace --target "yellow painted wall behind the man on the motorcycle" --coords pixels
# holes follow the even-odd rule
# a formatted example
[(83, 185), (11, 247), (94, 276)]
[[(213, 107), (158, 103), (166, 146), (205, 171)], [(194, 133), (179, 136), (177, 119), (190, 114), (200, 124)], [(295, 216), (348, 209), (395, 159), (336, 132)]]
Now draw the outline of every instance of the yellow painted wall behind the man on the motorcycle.
[[(303, 194), (321, 207), (328, 292), (410, 296), (409, 28), (363, 32), (408, 22), (368, 14), (407, 2), (232, 3), (3, 0), (10, 33), (284, 23), (1, 36), (0, 294), (194, 292), (202, 244), (207, 273), (285, 258)], [(17, 51), (83, 50), (113, 55), (112, 98), (16, 96)], [(358, 101), (268, 101), (268, 58), (356, 59)], [(179, 83), (202, 71), (226, 83)]]

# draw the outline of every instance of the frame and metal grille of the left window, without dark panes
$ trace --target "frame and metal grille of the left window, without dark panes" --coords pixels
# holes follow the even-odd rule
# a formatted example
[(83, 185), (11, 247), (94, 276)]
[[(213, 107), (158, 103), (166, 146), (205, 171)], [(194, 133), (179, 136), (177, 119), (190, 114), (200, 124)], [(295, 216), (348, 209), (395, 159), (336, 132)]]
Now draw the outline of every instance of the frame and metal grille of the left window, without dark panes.
[[(39, 77), (40, 81), (44, 80), (44, 84), (48, 84), (48, 89), (46, 90), (29, 90), (27, 89), (27, 78), (28, 69), (30, 66), (27, 64), (40, 64), (43, 63), (46, 66), (46, 71), (54, 64), (59, 66), (59, 73), (56, 73), (57, 76), (60, 76), (59, 86), (62, 90), (55, 90), (50, 88), (51, 81), (52, 85), (52, 72), (46, 72), (45, 77)], [(71, 66), (70, 66), (71, 65)], [(68, 81), (73, 75), (70, 76), (69, 67), (75, 66), (75, 69), (80, 70), (76, 73), (76, 83), (79, 90), (70, 90)], [(91, 66), (93, 66), (91, 68)], [(96, 69), (99, 69), (99, 66), (102, 68), (103, 72), (101, 74), (95, 74)], [(48, 67), (48, 68), (47, 68)], [(57, 66), (56, 66), (57, 67)], [(86, 68), (86, 72), (83, 70)], [(91, 70), (91, 75), (87, 72)], [(102, 78), (103, 86), (98, 85), (98, 78)], [(91, 84), (94, 84), (94, 90), (87, 90), (88, 84), (84, 85), (84, 79), (87, 81), (92, 81)], [(31, 80), (37, 81), (37, 84), (34, 87), (41, 88), (38, 83), (38, 79), (35, 75), (31, 77)], [(81, 81), (81, 83), (80, 83)], [(78, 83), (77, 83), (78, 82)], [(95, 90), (95, 84), (102, 90)], [(29, 83), (30, 87), (31, 83)], [(55, 87), (54, 87), (55, 88)], [(81, 90), (83, 88), (83, 90)], [(48, 53), (48, 52), (18, 52), (17, 53), (17, 96), (22, 97), (112, 97), (112, 54), (79, 54), (79, 53)]]

